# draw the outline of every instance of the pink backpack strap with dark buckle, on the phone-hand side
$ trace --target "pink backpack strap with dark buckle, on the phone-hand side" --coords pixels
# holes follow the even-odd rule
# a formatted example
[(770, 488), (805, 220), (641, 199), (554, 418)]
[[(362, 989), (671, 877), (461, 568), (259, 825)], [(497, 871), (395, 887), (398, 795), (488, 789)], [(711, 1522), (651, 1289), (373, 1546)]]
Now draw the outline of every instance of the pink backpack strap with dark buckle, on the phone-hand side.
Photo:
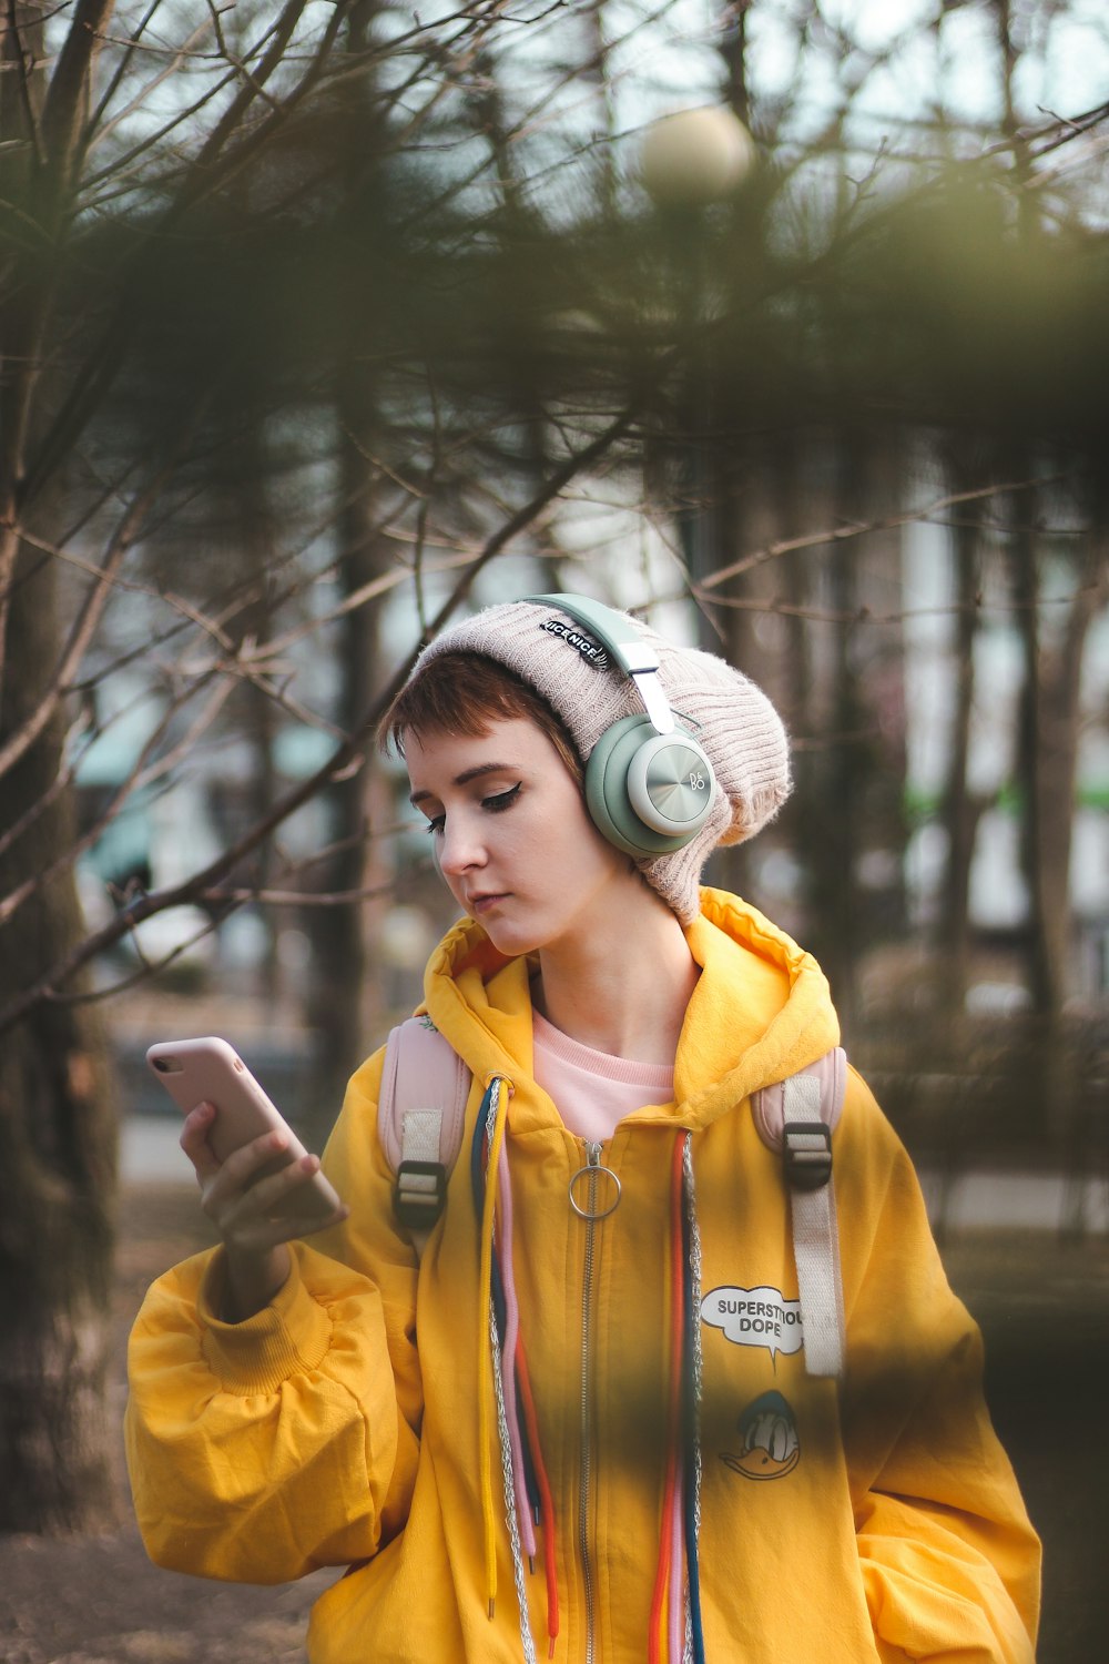
[(422, 1255), (462, 1145), (471, 1072), (429, 1017), (389, 1032), (377, 1137), (394, 1171), (392, 1208)]

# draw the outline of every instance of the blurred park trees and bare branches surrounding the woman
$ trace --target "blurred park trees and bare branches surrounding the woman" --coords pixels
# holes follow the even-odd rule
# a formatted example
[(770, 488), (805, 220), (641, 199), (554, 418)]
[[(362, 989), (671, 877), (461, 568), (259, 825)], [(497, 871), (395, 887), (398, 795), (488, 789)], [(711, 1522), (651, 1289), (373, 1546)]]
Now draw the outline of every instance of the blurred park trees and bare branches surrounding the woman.
[[(821, 957), (918, 1153), (1104, 1171), (1107, 33), (7, 8), (0, 1529), (98, 1506), (145, 1045), (233, 1033), (321, 1135), (419, 998), (449, 910), (372, 727), (464, 606), (584, 589), (762, 681), (795, 799), (710, 877)], [(755, 161), (657, 200), (700, 105)]]

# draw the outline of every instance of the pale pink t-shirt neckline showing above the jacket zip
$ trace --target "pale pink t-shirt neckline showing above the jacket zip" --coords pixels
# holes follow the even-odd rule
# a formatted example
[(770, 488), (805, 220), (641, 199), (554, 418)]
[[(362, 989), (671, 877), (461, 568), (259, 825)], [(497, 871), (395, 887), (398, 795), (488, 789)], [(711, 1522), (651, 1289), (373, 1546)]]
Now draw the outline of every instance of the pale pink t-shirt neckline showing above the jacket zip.
[(539, 1012), (535, 1023), (535, 1083), (554, 1098), (567, 1132), (589, 1143), (610, 1138), (617, 1122), (645, 1103), (673, 1097), (673, 1065), (628, 1063), (579, 1045)]

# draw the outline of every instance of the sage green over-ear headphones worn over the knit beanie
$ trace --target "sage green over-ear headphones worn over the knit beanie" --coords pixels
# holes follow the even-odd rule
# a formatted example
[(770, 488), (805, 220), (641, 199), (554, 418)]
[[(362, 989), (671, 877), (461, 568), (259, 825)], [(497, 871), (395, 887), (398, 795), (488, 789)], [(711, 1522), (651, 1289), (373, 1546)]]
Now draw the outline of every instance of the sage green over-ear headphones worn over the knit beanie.
[(717, 777), (702, 745), (673, 721), (658, 654), (625, 617), (589, 596), (525, 596), (582, 624), (632, 679), (643, 712), (605, 729), (585, 762), (585, 805), (597, 830), (640, 859), (670, 855), (705, 825)]

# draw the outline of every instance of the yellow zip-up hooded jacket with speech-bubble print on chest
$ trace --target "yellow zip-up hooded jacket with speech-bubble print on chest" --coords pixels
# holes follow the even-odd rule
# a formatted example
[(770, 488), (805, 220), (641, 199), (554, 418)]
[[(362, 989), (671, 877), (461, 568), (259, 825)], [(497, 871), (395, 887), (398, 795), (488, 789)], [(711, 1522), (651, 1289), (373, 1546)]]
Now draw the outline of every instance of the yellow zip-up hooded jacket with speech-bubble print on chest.
[[(1031, 1664), (1039, 1546), (981, 1398), (979, 1335), (948, 1288), (909, 1160), (855, 1075), (833, 1143), (845, 1379), (808, 1376), (803, 1350), (771, 1350), (757, 1326), (760, 1306), (796, 1300), (796, 1273), (780, 1161), (743, 1100), (836, 1043), (826, 982), (722, 892), (703, 892), (688, 940), (703, 972), (675, 1102), (620, 1123), (602, 1151), (620, 1203), (589, 1225), (567, 1195), (582, 1142), (530, 1078), (527, 965), (499, 958), (471, 922), (444, 938), (426, 1007), (476, 1080), (422, 1261), (392, 1215), (377, 1053), (351, 1082), (324, 1161), (351, 1218), (296, 1246), (274, 1303), (218, 1321), (214, 1253), (170, 1271), (143, 1305), (126, 1449), (158, 1564), (251, 1582), (351, 1566), (314, 1607), (313, 1664), (525, 1656), (500, 1489), (492, 1619), (484, 1562), (482, 1504), (500, 1458), (481, 1406), (489, 1326), (469, 1133), (497, 1073), (512, 1083), (512, 1263), (554, 1503), (552, 1656), (648, 1657), (668, 1186), (675, 1133), (688, 1128), (705, 1295), (707, 1664)], [(525, 1587), (542, 1656), (542, 1569)]]

